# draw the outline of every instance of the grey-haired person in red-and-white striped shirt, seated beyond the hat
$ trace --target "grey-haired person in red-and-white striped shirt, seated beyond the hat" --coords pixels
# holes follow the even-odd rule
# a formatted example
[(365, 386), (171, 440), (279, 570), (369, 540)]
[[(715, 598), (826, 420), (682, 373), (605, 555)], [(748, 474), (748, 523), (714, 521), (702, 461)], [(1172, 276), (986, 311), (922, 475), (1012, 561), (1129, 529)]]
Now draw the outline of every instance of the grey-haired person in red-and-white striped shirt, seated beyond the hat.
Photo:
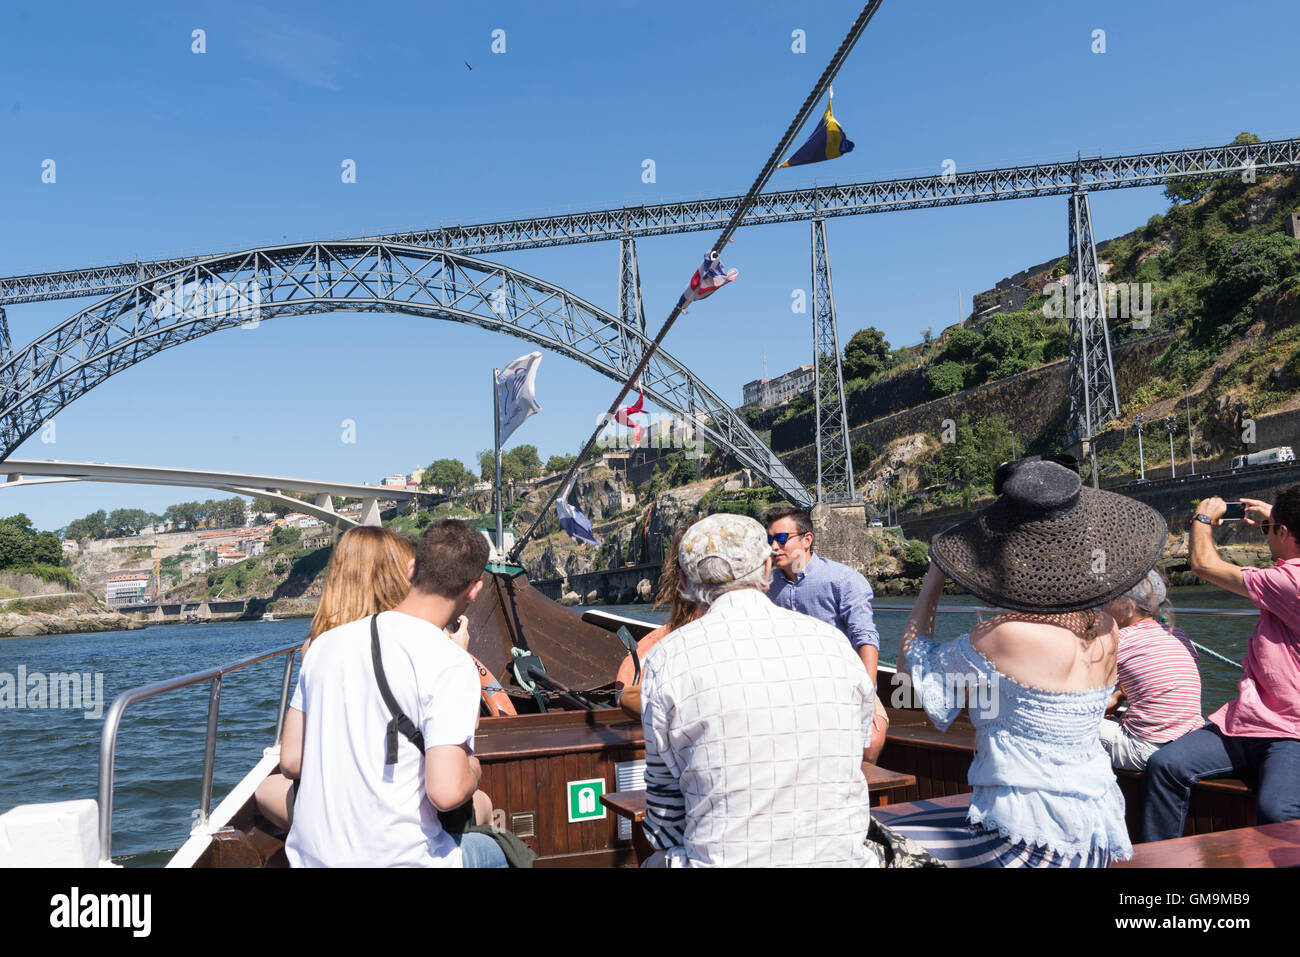
[(1119, 690), (1112, 707), (1122, 692), (1128, 710), (1118, 723), (1101, 723), (1101, 746), (1110, 763), (1124, 771), (1141, 771), (1157, 748), (1205, 724), (1196, 650), (1183, 632), (1156, 620), (1165, 596), (1165, 581), (1152, 570), (1104, 606), (1119, 625)]

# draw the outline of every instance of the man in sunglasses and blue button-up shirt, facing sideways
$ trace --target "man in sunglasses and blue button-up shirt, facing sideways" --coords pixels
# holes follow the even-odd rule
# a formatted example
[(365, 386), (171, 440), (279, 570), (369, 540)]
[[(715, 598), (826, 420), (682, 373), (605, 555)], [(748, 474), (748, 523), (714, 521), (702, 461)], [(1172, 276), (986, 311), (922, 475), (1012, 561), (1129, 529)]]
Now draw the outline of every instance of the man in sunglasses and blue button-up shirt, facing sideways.
[[(767, 597), (783, 609), (810, 615), (838, 628), (876, 683), (880, 662), (880, 633), (871, 616), (871, 585), (853, 568), (812, 554), (812, 518), (802, 508), (781, 505), (763, 516), (767, 542), (772, 546), (772, 584)], [(867, 755), (875, 761), (884, 746), (889, 726), (880, 698), (876, 698), (876, 735)]]

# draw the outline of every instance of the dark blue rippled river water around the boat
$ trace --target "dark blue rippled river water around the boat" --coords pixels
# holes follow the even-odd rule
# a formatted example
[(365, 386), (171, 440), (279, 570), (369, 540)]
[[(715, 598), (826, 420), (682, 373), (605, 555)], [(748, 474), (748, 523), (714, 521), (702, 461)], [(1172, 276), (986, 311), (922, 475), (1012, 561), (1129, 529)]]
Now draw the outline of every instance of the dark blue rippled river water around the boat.
[[(1244, 598), (1214, 588), (1174, 589), (1175, 607), (1245, 609)], [(974, 606), (966, 596), (946, 606)], [(876, 622), (881, 662), (893, 662), (907, 618), (909, 598), (880, 598)], [(901, 610), (887, 610), (897, 606)], [(645, 605), (610, 607), (628, 616), (663, 620)], [(936, 631), (952, 638), (975, 622), (974, 612), (940, 614)], [(23, 668), (34, 675), (103, 676), (100, 715), (88, 693), (73, 707), (0, 707), (0, 811), (20, 804), (94, 798), (98, 788), (101, 711), (124, 690), (191, 671), (229, 664), (302, 640), (307, 619), (155, 625), (136, 632), (58, 635), (0, 641), (0, 681)], [(1178, 627), (1208, 648), (1239, 661), (1254, 628), (1253, 616), (1183, 614)], [(1201, 657), (1206, 713), (1235, 697), (1240, 671)], [(220, 802), (276, 736), (276, 705), (283, 659), (228, 675), (221, 692), (212, 806)], [(10, 685), (12, 687), (12, 685)], [(60, 701), (57, 703), (69, 703)], [(161, 865), (188, 835), (199, 806), (208, 684), (152, 698), (127, 709), (118, 732), (113, 798), (113, 857), (127, 866)], [(90, 716), (87, 716), (90, 715)]]

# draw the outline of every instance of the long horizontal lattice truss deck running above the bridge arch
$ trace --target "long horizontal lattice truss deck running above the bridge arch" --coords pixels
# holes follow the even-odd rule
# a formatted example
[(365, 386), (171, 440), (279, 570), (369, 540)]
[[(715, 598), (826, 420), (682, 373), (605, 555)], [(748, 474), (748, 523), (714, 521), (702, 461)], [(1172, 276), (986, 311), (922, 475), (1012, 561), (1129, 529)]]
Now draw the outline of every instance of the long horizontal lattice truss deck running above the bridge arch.
[[(1032, 196), (1065, 196), (1075, 190), (1096, 192), (1135, 186), (1162, 186), (1171, 179), (1186, 177), (1239, 176), (1247, 170), (1262, 174), (1296, 168), (1300, 168), (1300, 139), (1097, 156), (970, 173), (763, 192), (741, 220), (741, 225), (797, 222), (818, 217), (861, 216)], [(692, 233), (722, 228), (742, 199), (742, 196), (720, 196), (500, 222), (438, 226), (370, 237), (369, 241), (485, 255)], [(140, 280), (174, 272), (199, 259), (131, 261), (0, 278), (0, 306), (118, 293)]]

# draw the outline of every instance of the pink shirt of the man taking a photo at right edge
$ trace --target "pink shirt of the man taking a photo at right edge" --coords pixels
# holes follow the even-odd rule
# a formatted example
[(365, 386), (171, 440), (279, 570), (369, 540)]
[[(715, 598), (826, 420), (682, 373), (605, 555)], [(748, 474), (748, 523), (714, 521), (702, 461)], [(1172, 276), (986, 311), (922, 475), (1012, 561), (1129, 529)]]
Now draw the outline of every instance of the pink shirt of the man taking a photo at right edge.
[(1300, 558), (1243, 568), (1260, 609), (1245, 648), (1239, 697), (1210, 715), (1225, 735), (1300, 739)]

